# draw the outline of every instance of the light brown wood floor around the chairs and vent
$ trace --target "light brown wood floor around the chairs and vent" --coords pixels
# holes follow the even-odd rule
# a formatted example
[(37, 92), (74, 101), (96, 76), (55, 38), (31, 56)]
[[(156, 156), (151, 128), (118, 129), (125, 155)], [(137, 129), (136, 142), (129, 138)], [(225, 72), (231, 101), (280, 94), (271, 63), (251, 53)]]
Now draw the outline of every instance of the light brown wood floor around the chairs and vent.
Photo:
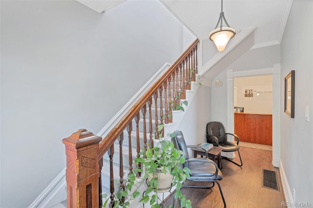
[[(242, 168), (222, 160), (224, 178), (220, 184), (227, 208), (281, 208), (285, 199), (279, 169), (271, 164), (272, 151), (240, 147), (240, 154), (244, 164)], [(239, 162), (237, 152), (234, 161)], [(280, 191), (262, 187), (263, 169), (276, 171)], [(181, 190), (191, 200), (193, 208), (224, 207), (217, 185), (211, 189), (185, 187)], [(165, 205), (172, 203), (173, 199), (168, 198)]]

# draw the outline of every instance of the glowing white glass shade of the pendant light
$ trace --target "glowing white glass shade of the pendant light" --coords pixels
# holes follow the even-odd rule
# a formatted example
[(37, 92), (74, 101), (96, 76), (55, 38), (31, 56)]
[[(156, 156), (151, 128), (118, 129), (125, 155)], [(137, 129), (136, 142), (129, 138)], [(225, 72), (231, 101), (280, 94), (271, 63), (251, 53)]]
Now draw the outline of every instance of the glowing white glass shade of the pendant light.
[(235, 34), (236, 33), (233, 28), (222, 27), (222, 30), (221, 28), (217, 28), (213, 30), (212, 32), (210, 32), (209, 37), (210, 37), (210, 40), (215, 43), (217, 50), (219, 52), (222, 52), (224, 51), (229, 39), (234, 37)]

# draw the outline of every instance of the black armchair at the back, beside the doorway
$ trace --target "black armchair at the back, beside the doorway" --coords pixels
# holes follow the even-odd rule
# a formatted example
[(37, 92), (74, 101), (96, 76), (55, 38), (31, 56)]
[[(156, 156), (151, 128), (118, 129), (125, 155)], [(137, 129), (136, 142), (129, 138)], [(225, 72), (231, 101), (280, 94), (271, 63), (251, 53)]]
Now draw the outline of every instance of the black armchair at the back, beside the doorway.
[[(227, 141), (227, 135), (231, 135), (236, 138), (237, 144), (233, 142)], [(240, 152), (239, 152), (239, 137), (236, 134), (226, 133), (224, 125), (221, 122), (209, 122), (206, 124), (206, 140), (208, 143), (212, 143), (214, 146), (220, 146), (223, 148), (223, 152), (235, 152), (238, 151), (238, 155), (240, 158), (240, 163), (235, 163), (227, 157), (222, 157), (222, 159), (226, 159), (237, 166), (243, 166), (243, 161), (241, 160)]]

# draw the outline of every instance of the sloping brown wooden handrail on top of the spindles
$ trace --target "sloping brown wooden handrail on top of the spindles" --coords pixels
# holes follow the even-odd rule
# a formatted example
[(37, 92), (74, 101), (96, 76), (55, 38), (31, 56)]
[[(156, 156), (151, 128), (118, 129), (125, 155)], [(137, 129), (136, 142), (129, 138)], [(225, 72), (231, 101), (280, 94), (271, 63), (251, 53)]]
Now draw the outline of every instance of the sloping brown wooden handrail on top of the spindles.
[(122, 119), (111, 129), (111, 131), (104, 137), (104, 139), (100, 142), (99, 146), (99, 160), (102, 159), (103, 155), (109, 150), (109, 148), (113, 145), (115, 140), (119, 137), (119, 135), (124, 131), (124, 129), (129, 125), (129, 123), (133, 120), (133, 118), (137, 115), (140, 109), (149, 101), (149, 99), (153, 96), (156, 90), (162, 85), (169, 76), (176, 70), (178, 65), (183, 62), (188, 53), (190, 53), (193, 48), (198, 44), (199, 40), (195, 40), (187, 50), (179, 57), (179, 59), (174, 62), (170, 68), (163, 74), (161, 77), (154, 83), (151, 88), (144, 93), (140, 99), (130, 108), (130, 110), (122, 117)]

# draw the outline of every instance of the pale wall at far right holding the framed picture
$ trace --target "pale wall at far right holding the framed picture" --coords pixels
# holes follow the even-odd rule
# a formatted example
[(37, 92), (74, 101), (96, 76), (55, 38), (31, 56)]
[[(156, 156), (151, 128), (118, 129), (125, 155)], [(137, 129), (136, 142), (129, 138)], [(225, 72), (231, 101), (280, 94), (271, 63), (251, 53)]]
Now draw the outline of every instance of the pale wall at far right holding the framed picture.
[[(281, 162), (291, 195), (297, 203), (313, 205), (313, 1), (293, 0), (281, 42), (282, 92), (284, 77), (295, 70), (294, 118), (281, 114)], [(284, 95), (282, 93), (282, 109)], [(305, 121), (309, 106), (310, 122)]]

